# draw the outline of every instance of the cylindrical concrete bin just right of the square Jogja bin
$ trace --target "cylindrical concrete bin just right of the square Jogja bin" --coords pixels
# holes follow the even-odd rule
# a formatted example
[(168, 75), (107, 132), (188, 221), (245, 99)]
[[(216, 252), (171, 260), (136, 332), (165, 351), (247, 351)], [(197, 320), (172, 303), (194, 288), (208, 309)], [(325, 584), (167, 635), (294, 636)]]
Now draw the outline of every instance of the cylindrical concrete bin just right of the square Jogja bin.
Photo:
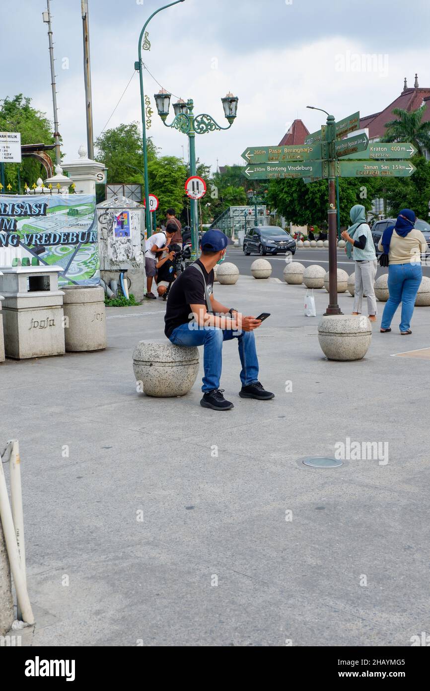
[(63, 295), (66, 352), (90, 352), (106, 348), (106, 307), (101, 287), (66, 287)]

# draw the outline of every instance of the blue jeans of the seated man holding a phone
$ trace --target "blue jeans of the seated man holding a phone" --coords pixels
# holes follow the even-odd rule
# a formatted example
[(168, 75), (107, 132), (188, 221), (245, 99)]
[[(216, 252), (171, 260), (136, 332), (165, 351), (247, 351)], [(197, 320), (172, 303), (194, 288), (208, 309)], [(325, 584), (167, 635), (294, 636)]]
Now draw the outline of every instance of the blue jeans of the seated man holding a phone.
[(219, 388), (222, 368), (222, 344), (237, 338), (239, 355), (242, 363), (240, 381), (242, 386), (249, 386), (258, 381), (258, 359), (255, 349), (255, 337), (252, 331), (223, 331), (215, 326), (199, 326), (195, 322), (181, 324), (170, 334), (173, 345), (204, 345), (204, 377), (202, 391)]

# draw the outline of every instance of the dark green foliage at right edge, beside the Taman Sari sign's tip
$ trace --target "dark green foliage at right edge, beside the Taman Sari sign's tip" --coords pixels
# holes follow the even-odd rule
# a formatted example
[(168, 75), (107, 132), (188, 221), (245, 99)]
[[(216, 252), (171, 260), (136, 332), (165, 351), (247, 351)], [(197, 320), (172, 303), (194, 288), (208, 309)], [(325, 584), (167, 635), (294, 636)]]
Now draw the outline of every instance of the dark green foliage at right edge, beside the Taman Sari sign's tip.
[(387, 209), (397, 216), (400, 209), (413, 209), (418, 218), (428, 220), (430, 199), (430, 162), (423, 156), (412, 159), (416, 171), (410, 178), (384, 180), (384, 198)]

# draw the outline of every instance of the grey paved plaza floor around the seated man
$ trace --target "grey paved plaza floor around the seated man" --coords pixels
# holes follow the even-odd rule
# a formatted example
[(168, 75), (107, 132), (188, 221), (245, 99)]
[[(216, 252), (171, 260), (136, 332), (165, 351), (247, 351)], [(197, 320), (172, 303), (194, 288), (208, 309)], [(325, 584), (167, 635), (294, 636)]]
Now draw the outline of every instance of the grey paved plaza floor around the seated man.
[[(181, 399), (137, 393), (133, 349), (164, 339), (160, 300), (109, 308), (104, 352), (0, 366), (37, 619), (23, 645), (409, 646), (430, 630), (429, 361), (393, 357), (430, 347), (430, 308), (407, 338), (379, 315), (365, 359), (336, 363), (317, 339), (328, 295), (306, 318), (305, 292), (215, 284), (271, 312), (256, 336), (276, 397), (238, 397), (226, 343), (226, 413), (199, 406), (200, 377)], [(353, 442), (383, 457), (302, 463)]]

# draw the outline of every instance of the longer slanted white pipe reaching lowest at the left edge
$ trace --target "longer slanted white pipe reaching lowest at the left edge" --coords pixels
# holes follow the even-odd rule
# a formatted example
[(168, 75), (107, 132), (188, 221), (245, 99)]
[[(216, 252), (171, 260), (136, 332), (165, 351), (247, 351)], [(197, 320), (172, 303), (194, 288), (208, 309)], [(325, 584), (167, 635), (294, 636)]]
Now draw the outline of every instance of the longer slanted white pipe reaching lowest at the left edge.
[(0, 518), (3, 526), (3, 533), (6, 542), (6, 549), (8, 550), (8, 557), (10, 563), (10, 571), (17, 591), (17, 602), (21, 607), (22, 619), (28, 624), (34, 624), (35, 618), (32, 613), (30, 598), (28, 597), (26, 578), (23, 569), (21, 569), (21, 560), (19, 557), (19, 549), (17, 543), (17, 536), (15, 535), (14, 522), (12, 518), (12, 511), (9, 504), (8, 486), (6, 485), (6, 477), (3, 471), (3, 462), (0, 461)]

